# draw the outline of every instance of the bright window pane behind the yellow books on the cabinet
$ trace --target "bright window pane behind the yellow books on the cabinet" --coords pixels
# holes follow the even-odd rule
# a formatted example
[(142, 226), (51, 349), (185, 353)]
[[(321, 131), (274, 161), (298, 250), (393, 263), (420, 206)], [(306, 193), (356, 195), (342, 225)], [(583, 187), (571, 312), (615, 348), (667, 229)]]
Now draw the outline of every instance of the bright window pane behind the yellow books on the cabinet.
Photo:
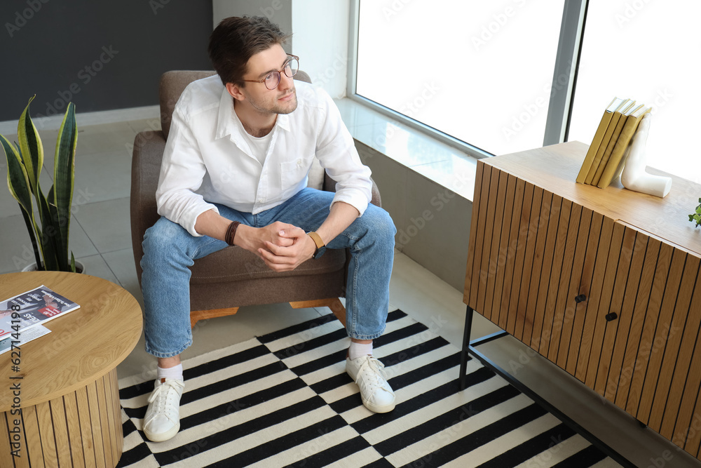
[(611, 99), (631, 98), (653, 107), (648, 166), (701, 182), (700, 17), (698, 2), (590, 2), (568, 139), (589, 144)]

